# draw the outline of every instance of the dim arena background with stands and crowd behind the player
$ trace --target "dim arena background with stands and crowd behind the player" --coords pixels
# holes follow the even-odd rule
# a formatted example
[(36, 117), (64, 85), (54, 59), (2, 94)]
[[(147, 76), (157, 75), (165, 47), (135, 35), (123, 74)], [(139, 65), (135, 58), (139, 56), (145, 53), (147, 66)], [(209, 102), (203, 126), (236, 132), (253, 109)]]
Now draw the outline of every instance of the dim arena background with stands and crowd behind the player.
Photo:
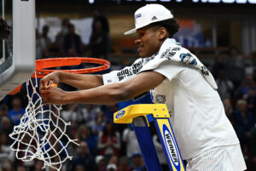
[[(202, 3), (204, 2), (204, 3)], [(211, 3), (215, 2), (215, 3)], [(218, 92), (224, 102), (227, 117), (241, 141), (247, 170), (256, 170), (256, 2), (255, 1), (85, 1), (85, 0), (41, 0), (36, 2), (37, 16), (37, 59), (86, 56), (111, 61), (109, 71), (121, 69), (131, 64), (137, 57), (135, 36), (123, 33), (134, 27), (133, 14), (146, 3), (161, 3), (172, 9), (180, 24), (175, 38), (184, 47), (196, 54), (212, 71), (218, 83)], [(5, 4), (7, 9), (11, 3)], [(92, 40), (93, 11), (98, 10), (106, 17), (108, 29), (96, 38), (104, 39), (99, 46)], [(9, 14), (6, 15), (8, 19)], [(102, 17), (102, 18), (104, 18)], [(81, 41), (75, 50), (65, 51), (65, 35), (56, 36), (63, 30), (61, 22), (69, 20)], [(100, 20), (102, 22), (102, 19)], [(43, 33), (43, 31), (45, 31)], [(67, 33), (67, 32), (65, 32)], [(107, 35), (107, 36), (106, 36)], [(68, 44), (66, 43), (66, 46)], [(61, 85), (67, 90), (74, 88)], [(8, 95), (0, 102), (0, 170), (11, 171), (42, 170), (42, 162), (20, 162), (15, 160), (9, 148), (12, 131), (17, 118), (26, 108), (26, 91), (15, 96)], [(65, 105), (61, 116), (71, 121), (68, 134), (85, 142), (83, 148), (71, 146), (74, 160), (62, 168), (69, 170), (143, 170), (143, 160), (135, 139), (126, 125), (115, 125), (112, 114), (118, 105)], [(108, 125), (108, 127), (106, 127)], [(112, 129), (113, 127), (113, 129)], [(117, 139), (117, 148), (106, 153), (101, 148), (101, 133), (109, 128)], [(107, 135), (106, 135), (107, 136)], [(5, 140), (6, 139), (6, 140)], [(159, 143), (154, 140), (154, 143)], [(101, 145), (100, 145), (101, 144)], [(131, 146), (133, 145), (133, 146)], [(161, 152), (161, 151), (160, 151)], [(114, 166), (117, 169), (114, 169)], [(164, 162), (162, 162), (165, 164)], [(136, 165), (136, 166), (135, 166)], [(112, 167), (112, 168), (111, 168)], [(107, 169), (108, 168), (108, 169)]]

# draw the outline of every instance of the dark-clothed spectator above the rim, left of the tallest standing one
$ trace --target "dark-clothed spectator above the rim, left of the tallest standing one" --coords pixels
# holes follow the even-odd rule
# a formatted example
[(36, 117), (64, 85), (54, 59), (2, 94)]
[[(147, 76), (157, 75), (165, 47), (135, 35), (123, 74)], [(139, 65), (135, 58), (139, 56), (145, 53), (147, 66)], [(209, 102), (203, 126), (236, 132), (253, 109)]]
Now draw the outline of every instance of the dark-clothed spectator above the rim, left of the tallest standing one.
[(82, 42), (79, 35), (75, 33), (75, 26), (68, 25), (68, 33), (61, 43), (61, 53), (65, 56), (82, 56)]

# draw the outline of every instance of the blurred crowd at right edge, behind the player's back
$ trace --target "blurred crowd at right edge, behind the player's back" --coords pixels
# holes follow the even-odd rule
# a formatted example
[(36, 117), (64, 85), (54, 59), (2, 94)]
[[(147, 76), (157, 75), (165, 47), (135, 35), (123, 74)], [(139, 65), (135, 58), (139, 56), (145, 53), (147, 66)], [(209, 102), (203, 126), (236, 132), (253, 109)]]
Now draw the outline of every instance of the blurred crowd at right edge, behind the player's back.
[(247, 170), (256, 170), (256, 68), (238, 48), (219, 54), (212, 66), (218, 94), (241, 143)]

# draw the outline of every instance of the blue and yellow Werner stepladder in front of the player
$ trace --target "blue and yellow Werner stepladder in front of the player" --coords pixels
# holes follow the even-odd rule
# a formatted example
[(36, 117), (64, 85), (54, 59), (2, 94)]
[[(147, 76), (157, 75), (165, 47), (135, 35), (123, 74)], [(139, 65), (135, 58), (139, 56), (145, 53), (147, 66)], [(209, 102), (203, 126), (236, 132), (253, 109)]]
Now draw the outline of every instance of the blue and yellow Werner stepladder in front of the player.
[[(113, 115), (114, 123), (132, 123), (138, 144), (143, 152), (148, 171), (162, 171), (153, 140), (149, 131), (149, 122), (154, 121), (161, 145), (166, 154), (166, 161), (172, 171), (185, 171), (183, 158), (178, 149), (172, 131), (169, 114), (165, 104), (130, 105)], [(150, 121), (149, 121), (150, 120)]]

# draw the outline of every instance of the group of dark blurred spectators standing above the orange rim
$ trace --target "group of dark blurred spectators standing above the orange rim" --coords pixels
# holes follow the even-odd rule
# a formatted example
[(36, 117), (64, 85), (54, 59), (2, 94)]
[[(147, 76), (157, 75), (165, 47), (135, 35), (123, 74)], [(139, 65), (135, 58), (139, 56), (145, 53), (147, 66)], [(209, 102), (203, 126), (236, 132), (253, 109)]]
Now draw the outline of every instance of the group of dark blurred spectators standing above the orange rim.
[(36, 29), (36, 56), (38, 59), (55, 57), (82, 57), (84, 54), (96, 58), (108, 58), (110, 37), (108, 19), (98, 9), (91, 13), (93, 19), (89, 44), (82, 42), (76, 26), (67, 18), (61, 22), (61, 31), (55, 35), (55, 41), (49, 38), (50, 26), (43, 26), (40, 33)]

